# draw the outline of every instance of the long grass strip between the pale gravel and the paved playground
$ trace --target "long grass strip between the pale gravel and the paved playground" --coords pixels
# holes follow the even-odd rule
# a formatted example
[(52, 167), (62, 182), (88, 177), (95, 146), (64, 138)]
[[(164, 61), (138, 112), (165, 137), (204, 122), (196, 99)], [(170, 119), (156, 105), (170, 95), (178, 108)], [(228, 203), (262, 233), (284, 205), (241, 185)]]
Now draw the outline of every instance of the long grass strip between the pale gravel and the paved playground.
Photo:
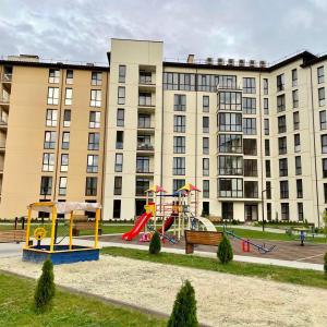
[(101, 254), (123, 256), (166, 265), (227, 272), (239, 276), (258, 277), (280, 282), (289, 282), (327, 289), (327, 278), (325, 277), (324, 272), (315, 270), (302, 270), (271, 265), (258, 265), (238, 262), (231, 262), (228, 265), (222, 265), (216, 258), (199, 257), (195, 255), (171, 254), (164, 252), (159, 253), (158, 255), (150, 255), (148, 251), (122, 247), (104, 247), (101, 249)]

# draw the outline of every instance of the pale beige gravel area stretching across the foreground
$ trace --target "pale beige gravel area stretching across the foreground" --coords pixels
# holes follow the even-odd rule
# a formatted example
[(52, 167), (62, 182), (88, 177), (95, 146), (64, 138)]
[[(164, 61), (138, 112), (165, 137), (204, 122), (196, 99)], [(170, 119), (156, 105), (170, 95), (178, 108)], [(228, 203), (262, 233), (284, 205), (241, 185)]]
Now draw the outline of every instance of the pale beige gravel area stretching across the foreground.
[[(40, 265), (1, 258), (0, 269), (37, 278)], [(105, 255), (55, 266), (56, 282), (170, 314), (185, 279), (195, 288), (198, 319), (210, 326), (327, 326), (327, 291), (252, 277)]]

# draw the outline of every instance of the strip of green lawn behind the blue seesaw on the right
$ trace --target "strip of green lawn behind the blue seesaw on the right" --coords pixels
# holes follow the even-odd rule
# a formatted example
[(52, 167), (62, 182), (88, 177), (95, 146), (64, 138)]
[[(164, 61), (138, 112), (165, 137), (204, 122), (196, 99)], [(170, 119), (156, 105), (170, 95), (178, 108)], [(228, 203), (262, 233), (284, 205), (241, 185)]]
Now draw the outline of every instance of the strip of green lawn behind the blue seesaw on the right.
[[(222, 231), (222, 227), (217, 227), (218, 231)], [(229, 231), (234, 231), (238, 237), (257, 239), (257, 240), (270, 240), (270, 241), (292, 241), (299, 239), (298, 234), (289, 237), (287, 233), (272, 233), (272, 232), (263, 232), (261, 230), (249, 230), (241, 228), (228, 227)], [(311, 238), (310, 238), (311, 239)], [(327, 238), (315, 238), (313, 240), (315, 243), (327, 243)]]

